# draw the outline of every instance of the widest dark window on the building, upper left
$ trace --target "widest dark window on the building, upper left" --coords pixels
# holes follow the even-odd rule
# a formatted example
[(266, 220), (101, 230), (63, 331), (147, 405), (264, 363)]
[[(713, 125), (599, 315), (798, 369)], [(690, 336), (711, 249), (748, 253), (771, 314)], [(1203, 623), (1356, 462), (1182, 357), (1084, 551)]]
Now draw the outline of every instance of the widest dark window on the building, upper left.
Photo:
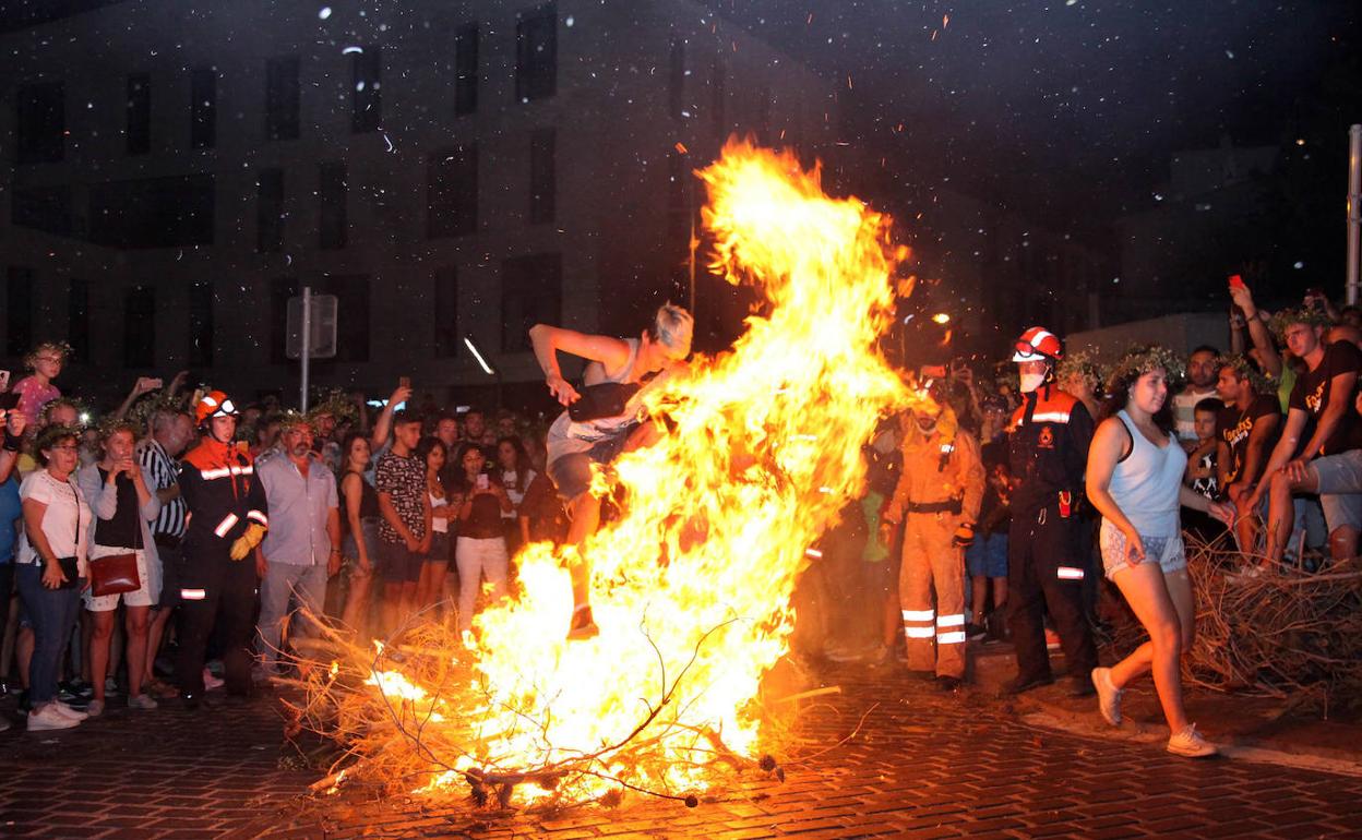
[(90, 187), (90, 240), (114, 248), (212, 245), (214, 176), (105, 181)]

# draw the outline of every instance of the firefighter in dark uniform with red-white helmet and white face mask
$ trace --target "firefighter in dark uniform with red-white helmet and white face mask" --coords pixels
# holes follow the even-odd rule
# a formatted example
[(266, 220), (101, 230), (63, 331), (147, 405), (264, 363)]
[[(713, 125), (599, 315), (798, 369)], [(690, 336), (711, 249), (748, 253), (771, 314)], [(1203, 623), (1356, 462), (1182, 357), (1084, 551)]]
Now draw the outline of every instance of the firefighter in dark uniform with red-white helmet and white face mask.
[(1043, 327), (1022, 334), (1012, 361), (1022, 378), (1022, 406), (1009, 426), (1012, 528), (1008, 534), (1008, 607), (1017, 677), (1012, 694), (1050, 685), (1045, 644), (1049, 610), (1068, 663), (1075, 697), (1094, 693), (1098, 664), (1092, 630), (1083, 615), (1083, 580), (1090, 554), (1081, 545), (1079, 493), (1083, 489), (1092, 415), (1054, 384), (1064, 355), (1060, 339)]

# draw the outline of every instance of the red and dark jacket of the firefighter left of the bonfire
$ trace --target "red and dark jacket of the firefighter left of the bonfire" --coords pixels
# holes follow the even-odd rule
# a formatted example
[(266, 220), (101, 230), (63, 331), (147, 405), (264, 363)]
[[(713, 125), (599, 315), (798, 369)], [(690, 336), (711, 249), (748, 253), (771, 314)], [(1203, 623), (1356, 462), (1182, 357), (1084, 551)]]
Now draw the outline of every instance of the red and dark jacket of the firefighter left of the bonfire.
[(264, 486), (234, 445), (206, 436), (180, 463), (180, 493), (189, 509), (184, 539), (196, 550), (226, 555), (249, 526), (270, 527)]

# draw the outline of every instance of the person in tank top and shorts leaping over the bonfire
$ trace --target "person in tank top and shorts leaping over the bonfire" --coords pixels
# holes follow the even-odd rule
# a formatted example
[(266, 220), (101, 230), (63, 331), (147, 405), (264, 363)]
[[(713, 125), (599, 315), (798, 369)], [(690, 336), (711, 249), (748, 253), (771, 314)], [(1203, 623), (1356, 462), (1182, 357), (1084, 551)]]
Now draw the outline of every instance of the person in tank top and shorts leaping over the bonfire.
[[(599, 633), (591, 615), (591, 568), (582, 551), (601, 523), (601, 498), (591, 493), (591, 464), (610, 463), (655, 434), (651, 425), (642, 423), (642, 384), (691, 355), (693, 324), (689, 312), (666, 304), (636, 339), (587, 335), (549, 324), (530, 328), (543, 381), (553, 398), (569, 407), (549, 427), (546, 441), (546, 471), (567, 502), (568, 543), (577, 549), (569, 565), (572, 622), (568, 639), (590, 639)], [(563, 377), (560, 351), (587, 359), (582, 392)]]

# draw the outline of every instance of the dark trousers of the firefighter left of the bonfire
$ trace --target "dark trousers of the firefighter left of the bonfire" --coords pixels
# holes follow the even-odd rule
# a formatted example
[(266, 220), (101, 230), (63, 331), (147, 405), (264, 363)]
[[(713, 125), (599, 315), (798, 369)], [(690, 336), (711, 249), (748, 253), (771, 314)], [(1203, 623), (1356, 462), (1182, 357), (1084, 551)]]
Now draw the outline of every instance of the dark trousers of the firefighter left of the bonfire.
[(176, 663), (180, 694), (203, 696), (203, 663), (214, 630), (222, 644), (227, 693), (249, 694), (255, 561), (249, 557), (232, 560), (225, 550), (204, 553), (187, 546), (180, 572), (180, 656)]

